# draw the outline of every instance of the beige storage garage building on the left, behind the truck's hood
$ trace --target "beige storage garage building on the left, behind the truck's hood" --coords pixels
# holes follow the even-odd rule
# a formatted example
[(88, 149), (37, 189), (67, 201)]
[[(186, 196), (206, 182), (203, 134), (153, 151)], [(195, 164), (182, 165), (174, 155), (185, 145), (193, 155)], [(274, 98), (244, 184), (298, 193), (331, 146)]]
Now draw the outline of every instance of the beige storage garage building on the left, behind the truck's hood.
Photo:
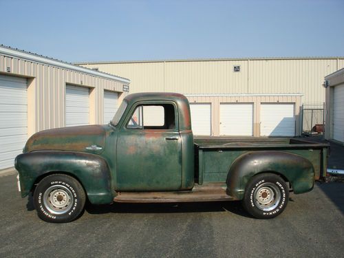
[(105, 123), (130, 81), (0, 46), (0, 169), (37, 131)]

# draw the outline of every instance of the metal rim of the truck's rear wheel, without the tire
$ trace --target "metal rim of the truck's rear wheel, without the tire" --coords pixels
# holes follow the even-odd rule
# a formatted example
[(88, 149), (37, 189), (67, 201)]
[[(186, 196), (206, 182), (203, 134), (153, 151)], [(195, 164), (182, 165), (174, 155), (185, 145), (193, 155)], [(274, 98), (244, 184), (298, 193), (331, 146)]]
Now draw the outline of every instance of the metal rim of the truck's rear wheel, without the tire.
[(281, 192), (272, 183), (261, 184), (255, 189), (253, 195), (255, 197), (255, 204), (261, 211), (272, 211), (281, 201)]

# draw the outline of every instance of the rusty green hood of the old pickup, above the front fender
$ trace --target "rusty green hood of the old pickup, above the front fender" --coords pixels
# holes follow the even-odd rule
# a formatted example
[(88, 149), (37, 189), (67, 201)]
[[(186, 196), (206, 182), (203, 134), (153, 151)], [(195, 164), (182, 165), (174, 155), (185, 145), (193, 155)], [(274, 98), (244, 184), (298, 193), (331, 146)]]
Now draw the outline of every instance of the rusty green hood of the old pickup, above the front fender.
[(105, 125), (63, 127), (34, 133), (23, 152), (59, 150), (102, 153), (105, 148)]

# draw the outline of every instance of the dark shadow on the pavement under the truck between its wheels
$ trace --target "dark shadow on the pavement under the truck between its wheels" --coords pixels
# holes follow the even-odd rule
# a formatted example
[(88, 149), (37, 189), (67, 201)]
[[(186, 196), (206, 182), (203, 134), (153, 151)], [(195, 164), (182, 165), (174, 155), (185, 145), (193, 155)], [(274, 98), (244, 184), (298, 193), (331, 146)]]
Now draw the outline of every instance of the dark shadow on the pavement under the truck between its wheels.
[(251, 217), (240, 202), (182, 202), (159, 204), (129, 204), (114, 203), (109, 205), (94, 205), (87, 202), (87, 213), (207, 213), (224, 212), (234, 213), (243, 217)]

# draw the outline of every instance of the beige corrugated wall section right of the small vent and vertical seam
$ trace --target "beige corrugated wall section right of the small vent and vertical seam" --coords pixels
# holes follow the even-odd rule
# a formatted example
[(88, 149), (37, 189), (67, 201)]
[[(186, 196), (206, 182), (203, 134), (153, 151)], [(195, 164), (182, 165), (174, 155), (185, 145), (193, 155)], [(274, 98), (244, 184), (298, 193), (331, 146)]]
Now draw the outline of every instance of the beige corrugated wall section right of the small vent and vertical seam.
[(323, 103), (323, 77), (336, 71), (336, 63), (336, 59), (250, 61), (250, 93), (302, 93), (305, 104)]

